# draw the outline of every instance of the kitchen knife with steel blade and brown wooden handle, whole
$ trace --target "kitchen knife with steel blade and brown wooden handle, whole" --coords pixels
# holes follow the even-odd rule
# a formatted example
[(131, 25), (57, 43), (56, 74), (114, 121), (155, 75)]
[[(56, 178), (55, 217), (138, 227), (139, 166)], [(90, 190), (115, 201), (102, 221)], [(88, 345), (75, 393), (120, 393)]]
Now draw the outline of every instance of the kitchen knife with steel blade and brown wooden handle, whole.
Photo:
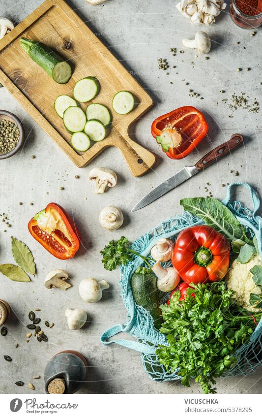
[(170, 177), (170, 179), (157, 186), (150, 193), (147, 193), (146, 196), (133, 207), (131, 212), (144, 208), (154, 200), (170, 192), (172, 189), (175, 189), (179, 186), (179, 184), (204, 170), (205, 167), (213, 162), (218, 161), (220, 158), (224, 157), (224, 155), (229, 154), (234, 148), (239, 147), (239, 145), (242, 145), (243, 143), (243, 136), (240, 135), (240, 133), (234, 133), (229, 141), (224, 142), (224, 144), (221, 144), (209, 151), (209, 153), (207, 153), (195, 165), (182, 168), (174, 176)]

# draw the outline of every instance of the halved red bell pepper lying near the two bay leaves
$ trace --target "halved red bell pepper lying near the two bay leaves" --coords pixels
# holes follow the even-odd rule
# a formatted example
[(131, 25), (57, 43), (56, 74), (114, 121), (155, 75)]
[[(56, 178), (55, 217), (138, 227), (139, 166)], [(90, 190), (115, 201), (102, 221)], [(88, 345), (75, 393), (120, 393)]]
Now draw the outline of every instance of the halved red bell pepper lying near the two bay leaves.
[(77, 226), (57, 203), (49, 203), (38, 212), (29, 221), (28, 228), (34, 239), (57, 258), (72, 258), (79, 249)]

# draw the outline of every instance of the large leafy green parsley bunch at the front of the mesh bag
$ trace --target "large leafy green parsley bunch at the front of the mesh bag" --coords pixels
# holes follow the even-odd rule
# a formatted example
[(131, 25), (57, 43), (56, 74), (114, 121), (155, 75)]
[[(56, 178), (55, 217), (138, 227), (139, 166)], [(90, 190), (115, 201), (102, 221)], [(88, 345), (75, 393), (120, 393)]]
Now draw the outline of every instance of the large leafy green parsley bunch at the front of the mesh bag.
[[(248, 313), (240, 314), (232, 301), (234, 292), (224, 282), (190, 286), (195, 297), (189, 291), (181, 302), (176, 291), (169, 306), (160, 306), (164, 319), (160, 332), (167, 334), (170, 345), (159, 346), (156, 354), (167, 371), (176, 371), (182, 385), (190, 386), (194, 378), (204, 393), (216, 393), (215, 378), (235, 363), (235, 351), (256, 325)], [(258, 314), (256, 320), (260, 318)]]

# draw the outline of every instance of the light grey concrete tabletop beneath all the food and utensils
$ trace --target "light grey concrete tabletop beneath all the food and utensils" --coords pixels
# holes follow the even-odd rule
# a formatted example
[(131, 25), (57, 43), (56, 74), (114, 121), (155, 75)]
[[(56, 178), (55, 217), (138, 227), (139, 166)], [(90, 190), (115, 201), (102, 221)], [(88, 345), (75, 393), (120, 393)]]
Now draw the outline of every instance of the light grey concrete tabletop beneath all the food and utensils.
[[(2, 0), (0, 16), (19, 23), (40, 3), (42, 0)], [(226, 193), (221, 184), (235, 180), (249, 182), (260, 191), (261, 109), (257, 115), (243, 109), (231, 111), (222, 99), (228, 98), (230, 102), (233, 93), (246, 92), (251, 102), (256, 97), (262, 104), (261, 30), (251, 36), (251, 31), (236, 27), (227, 6), (217, 22), (206, 28), (212, 38), (212, 49), (210, 59), (205, 60), (196, 51), (182, 48), (181, 39), (193, 37), (196, 28), (178, 13), (175, 3), (175, 0), (112, 0), (104, 5), (90, 6), (85, 0), (70, 0), (79, 16), (155, 100), (155, 106), (133, 128), (133, 137), (157, 155), (156, 165), (142, 178), (130, 174), (114, 148), (107, 149), (86, 168), (75, 167), (17, 101), (4, 88), (0, 89), (0, 108), (14, 112), (23, 120), (26, 130), (23, 150), (0, 163), (0, 212), (7, 213), (12, 224), (7, 232), (3, 232), (4, 227), (0, 225), (0, 262), (12, 262), (9, 237), (13, 235), (29, 245), (37, 266), (37, 275), (31, 283), (20, 284), (0, 277), (0, 298), (7, 300), (13, 309), (7, 322), (8, 335), (0, 336), (2, 393), (29, 392), (27, 385), (15, 386), (17, 380), (26, 384), (32, 382), (35, 393), (42, 393), (46, 362), (64, 349), (78, 350), (87, 357), (88, 379), (80, 393), (199, 393), (199, 387), (193, 382), (190, 388), (185, 388), (178, 382), (151, 381), (144, 372), (140, 354), (116, 345), (104, 347), (99, 341), (105, 329), (115, 323), (124, 323), (126, 318), (117, 283), (118, 271), (105, 271), (100, 261), (99, 251), (110, 239), (125, 235), (133, 240), (180, 213), (180, 198), (204, 196), (207, 182), (211, 183), (209, 190), (217, 198)], [(176, 57), (170, 52), (172, 47), (177, 48)], [(181, 49), (185, 50), (184, 54), (179, 53)], [(158, 69), (160, 57), (168, 59), (168, 76)], [(243, 70), (237, 72), (238, 67)], [(246, 67), (251, 70), (246, 71)], [(199, 92), (204, 99), (189, 97), (189, 89)], [(220, 90), (226, 92), (222, 94)], [(155, 117), (182, 105), (195, 105), (204, 111), (210, 126), (209, 138), (184, 160), (172, 161), (159, 150), (150, 134), (150, 126)], [(233, 117), (229, 118), (230, 115)], [(145, 193), (184, 165), (193, 165), (210, 150), (210, 146), (228, 140), (234, 132), (244, 135), (244, 147), (144, 210), (130, 213)], [(36, 158), (31, 159), (31, 155)], [(110, 167), (119, 178), (117, 187), (104, 195), (94, 195), (94, 185), (88, 181), (89, 170), (96, 165)], [(238, 170), (239, 176), (234, 177), (230, 170)], [(80, 178), (75, 179), (75, 175)], [(63, 191), (60, 186), (64, 187)], [(239, 191), (237, 197), (251, 206), (244, 191)], [(23, 205), (18, 205), (19, 201)], [(73, 214), (81, 230), (83, 245), (74, 259), (59, 261), (52, 257), (27, 230), (31, 216), (51, 201), (58, 202)], [(29, 202), (33, 202), (33, 206)], [(123, 227), (116, 232), (104, 231), (98, 224), (99, 211), (108, 204), (119, 206), (125, 216)], [(44, 289), (44, 277), (53, 268), (68, 271), (71, 289), (66, 292)], [(110, 289), (104, 292), (101, 302), (87, 304), (79, 297), (78, 284), (83, 278), (92, 276), (108, 280)], [(26, 343), (28, 313), (36, 307), (41, 309), (42, 324), (44, 320), (55, 323), (47, 331), (47, 344), (39, 344), (33, 338)], [(84, 329), (69, 331), (64, 317), (67, 307), (81, 307), (87, 311), (88, 323)], [(16, 342), (19, 343), (17, 349)], [(13, 361), (6, 362), (3, 354), (10, 355)], [(33, 381), (34, 374), (40, 374), (41, 379)], [(261, 377), (260, 369), (249, 376), (218, 379), (216, 386), (218, 393), (261, 393)]]

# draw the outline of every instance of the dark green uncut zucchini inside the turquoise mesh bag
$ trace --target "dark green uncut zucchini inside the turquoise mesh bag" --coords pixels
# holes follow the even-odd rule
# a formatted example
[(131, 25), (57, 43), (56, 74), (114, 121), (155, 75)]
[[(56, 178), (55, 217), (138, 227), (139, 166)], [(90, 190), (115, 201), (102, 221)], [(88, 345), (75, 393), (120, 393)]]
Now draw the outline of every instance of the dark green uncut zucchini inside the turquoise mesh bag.
[(131, 288), (134, 301), (150, 312), (157, 329), (160, 328), (162, 318), (160, 316), (158, 289), (156, 276), (145, 267), (139, 267), (131, 278)]

